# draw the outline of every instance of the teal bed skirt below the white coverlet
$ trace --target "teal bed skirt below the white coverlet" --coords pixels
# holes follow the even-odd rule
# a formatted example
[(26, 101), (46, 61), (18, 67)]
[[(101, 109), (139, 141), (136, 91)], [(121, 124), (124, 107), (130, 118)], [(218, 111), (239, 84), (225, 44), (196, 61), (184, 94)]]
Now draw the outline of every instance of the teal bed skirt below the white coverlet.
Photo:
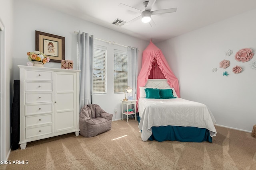
[[(140, 123), (140, 116), (138, 115)], [(152, 127), (152, 135), (148, 140), (153, 141), (180, 141), (180, 142), (212, 142), (210, 132), (205, 128), (182, 126)]]

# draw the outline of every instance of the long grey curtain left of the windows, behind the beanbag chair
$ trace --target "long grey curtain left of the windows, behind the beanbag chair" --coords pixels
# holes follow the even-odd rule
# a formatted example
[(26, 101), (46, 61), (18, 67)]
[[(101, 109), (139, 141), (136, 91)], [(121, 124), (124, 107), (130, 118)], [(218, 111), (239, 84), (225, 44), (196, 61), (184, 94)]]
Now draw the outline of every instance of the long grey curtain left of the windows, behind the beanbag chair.
[(93, 103), (93, 35), (78, 33), (78, 67), (80, 72), (80, 109)]

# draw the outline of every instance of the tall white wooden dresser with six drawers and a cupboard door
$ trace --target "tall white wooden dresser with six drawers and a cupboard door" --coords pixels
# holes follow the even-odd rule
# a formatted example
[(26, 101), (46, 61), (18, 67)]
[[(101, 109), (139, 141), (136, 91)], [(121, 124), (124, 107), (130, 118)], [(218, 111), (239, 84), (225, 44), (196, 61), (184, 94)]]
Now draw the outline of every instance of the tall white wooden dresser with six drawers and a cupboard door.
[(80, 70), (21, 66), (20, 148), (27, 142), (79, 135)]

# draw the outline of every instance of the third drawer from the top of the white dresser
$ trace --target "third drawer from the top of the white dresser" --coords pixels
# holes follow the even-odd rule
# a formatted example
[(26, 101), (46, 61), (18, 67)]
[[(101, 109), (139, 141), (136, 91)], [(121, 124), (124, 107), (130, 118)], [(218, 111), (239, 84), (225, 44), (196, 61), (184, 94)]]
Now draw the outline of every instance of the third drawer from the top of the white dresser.
[(42, 102), (52, 102), (53, 93), (25, 93), (25, 104), (30, 103), (42, 103)]

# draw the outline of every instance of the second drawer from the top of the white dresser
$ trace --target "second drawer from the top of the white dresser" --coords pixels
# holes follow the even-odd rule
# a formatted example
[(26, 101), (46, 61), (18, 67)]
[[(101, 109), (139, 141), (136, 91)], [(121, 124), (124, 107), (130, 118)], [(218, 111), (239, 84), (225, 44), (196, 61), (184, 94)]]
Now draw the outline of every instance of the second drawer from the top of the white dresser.
[(25, 82), (25, 92), (52, 92), (52, 82)]

